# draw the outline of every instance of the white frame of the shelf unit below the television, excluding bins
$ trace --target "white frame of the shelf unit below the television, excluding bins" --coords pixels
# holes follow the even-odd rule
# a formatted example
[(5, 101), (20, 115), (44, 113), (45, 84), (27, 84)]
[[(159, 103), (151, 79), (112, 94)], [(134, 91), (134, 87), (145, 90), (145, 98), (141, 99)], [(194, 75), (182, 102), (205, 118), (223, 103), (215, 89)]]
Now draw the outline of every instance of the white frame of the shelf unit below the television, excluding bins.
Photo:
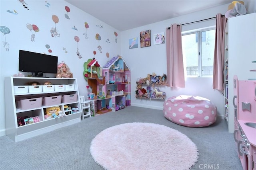
[[(73, 85), (74, 89), (60, 90), (60, 91), (43, 91), (42, 92), (24, 92), (15, 93), (15, 86), (24, 86), (27, 82), (39, 82), (44, 84), (46, 81), (52, 82), (53, 85)], [(41, 77), (5, 77), (4, 79), (5, 88), (5, 113), (6, 113), (6, 135), (15, 142), (28, 139), (57, 128), (72, 125), (81, 121), (81, 105), (79, 99), (78, 86), (75, 78), (41, 78)], [(53, 104), (51, 106), (43, 106), (30, 108), (30, 109), (18, 109), (18, 100), (20, 99), (31, 99), (31, 98), (44, 98), (46, 96), (78, 96), (77, 100), (68, 101), (68, 103)], [(64, 100), (66, 102), (66, 100)], [(78, 111), (72, 113), (71, 110), (64, 110), (64, 106), (75, 107)], [(59, 106), (61, 111), (66, 113), (63, 117), (54, 119), (45, 119), (45, 109), (47, 107)], [(39, 122), (18, 125), (17, 117), (38, 117)]]

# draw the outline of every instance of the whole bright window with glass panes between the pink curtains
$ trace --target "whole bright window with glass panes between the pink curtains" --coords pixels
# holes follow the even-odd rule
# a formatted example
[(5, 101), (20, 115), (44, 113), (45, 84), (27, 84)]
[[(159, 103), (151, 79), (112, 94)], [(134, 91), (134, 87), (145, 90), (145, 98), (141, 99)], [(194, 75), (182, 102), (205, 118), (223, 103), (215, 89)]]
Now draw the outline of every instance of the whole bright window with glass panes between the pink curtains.
[(182, 53), (188, 77), (213, 75), (215, 28), (182, 34)]

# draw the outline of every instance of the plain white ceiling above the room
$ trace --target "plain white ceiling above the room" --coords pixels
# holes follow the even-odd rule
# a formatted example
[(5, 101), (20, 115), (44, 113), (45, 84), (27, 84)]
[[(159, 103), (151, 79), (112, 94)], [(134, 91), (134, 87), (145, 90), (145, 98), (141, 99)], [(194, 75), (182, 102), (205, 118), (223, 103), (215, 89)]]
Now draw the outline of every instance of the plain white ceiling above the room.
[(119, 31), (125, 31), (228, 4), (232, 0), (66, 0), (66, 2)]

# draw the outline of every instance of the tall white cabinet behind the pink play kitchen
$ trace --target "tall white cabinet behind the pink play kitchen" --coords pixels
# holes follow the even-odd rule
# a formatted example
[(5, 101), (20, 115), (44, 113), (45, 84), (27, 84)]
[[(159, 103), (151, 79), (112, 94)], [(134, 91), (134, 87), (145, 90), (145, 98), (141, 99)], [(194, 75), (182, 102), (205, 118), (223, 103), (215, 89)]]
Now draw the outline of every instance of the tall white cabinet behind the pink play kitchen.
[(256, 13), (228, 19), (228, 131), (234, 132), (234, 75), (238, 80), (256, 78)]

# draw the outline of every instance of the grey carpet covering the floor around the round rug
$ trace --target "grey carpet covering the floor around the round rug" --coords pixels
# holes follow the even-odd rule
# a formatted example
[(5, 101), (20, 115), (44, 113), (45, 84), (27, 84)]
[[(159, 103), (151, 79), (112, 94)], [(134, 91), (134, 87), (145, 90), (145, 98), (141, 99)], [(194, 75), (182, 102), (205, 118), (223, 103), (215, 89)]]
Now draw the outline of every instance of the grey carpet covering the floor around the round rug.
[(224, 120), (217, 120), (209, 127), (183, 127), (164, 118), (161, 110), (134, 106), (88, 117), (80, 123), (17, 143), (7, 136), (0, 137), (0, 169), (102, 170), (90, 154), (92, 139), (108, 127), (129, 122), (158, 123), (187, 135), (197, 145), (199, 152), (198, 162), (192, 166), (192, 170), (242, 170), (233, 134), (228, 133)]

